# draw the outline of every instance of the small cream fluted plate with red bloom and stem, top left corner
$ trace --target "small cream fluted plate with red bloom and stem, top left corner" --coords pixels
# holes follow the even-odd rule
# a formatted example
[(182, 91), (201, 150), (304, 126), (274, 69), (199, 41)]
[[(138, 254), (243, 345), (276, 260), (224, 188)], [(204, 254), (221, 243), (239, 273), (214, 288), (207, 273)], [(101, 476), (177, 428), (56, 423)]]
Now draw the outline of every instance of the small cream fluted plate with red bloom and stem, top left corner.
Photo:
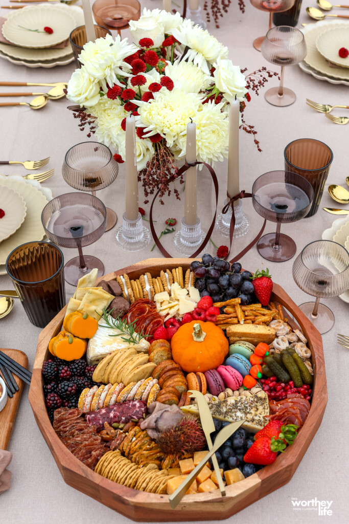
[[(53, 29), (51, 35), (43, 30), (46, 26)], [(3, 24), (2, 33), (15, 46), (46, 48), (69, 38), (74, 28), (75, 19), (70, 13), (51, 5), (38, 5), (27, 6), (10, 13)], [(39, 29), (43, 32), (28, 29)]]

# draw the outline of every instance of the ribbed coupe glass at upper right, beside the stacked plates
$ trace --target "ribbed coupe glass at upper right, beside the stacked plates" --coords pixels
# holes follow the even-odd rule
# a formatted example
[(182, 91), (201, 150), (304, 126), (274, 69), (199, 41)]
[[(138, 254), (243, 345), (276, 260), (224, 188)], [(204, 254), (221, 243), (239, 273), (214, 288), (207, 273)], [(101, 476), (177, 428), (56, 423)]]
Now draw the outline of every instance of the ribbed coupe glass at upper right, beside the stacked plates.
[(285, 65), (298, 64), (307, 54), (306, 41), (303, 33), (291, 26), (277, 26), (269, 29), (262, 42), (263, 57), (272, 64), (281, 66), (280, 85), (268, 89), (265, 100), (269, 104), (284, 107), (296, 101), (296, 94), (284, 88)]

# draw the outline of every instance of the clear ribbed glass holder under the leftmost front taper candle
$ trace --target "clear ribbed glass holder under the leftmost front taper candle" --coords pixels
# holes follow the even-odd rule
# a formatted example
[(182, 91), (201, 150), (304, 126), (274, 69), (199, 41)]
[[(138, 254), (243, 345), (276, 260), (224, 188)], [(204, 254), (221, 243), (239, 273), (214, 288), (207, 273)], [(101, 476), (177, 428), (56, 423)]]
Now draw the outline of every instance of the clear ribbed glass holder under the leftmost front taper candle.
[(123, 213), (122, 226), (116, 233), (116, 243), (125, 251), (140, 251), (150, 244), (150, 232), (143, 226), (140, 213), (136, 220), (128, 220), (126, 213)]

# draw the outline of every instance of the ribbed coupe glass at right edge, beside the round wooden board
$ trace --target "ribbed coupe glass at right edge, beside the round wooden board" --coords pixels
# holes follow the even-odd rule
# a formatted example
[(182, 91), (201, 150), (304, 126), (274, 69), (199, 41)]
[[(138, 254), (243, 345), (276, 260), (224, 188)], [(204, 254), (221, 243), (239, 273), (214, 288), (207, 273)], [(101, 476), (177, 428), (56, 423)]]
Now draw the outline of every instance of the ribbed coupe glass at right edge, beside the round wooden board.
[(299, 309), (321, 334), (334, 324), (334, 315), (320, 298), (337, 297), (349, 288), (349, 253), (331, 240), (311, 242), (296, 258), (292, 275), (297, 286), (315, 302), (305, 302)]

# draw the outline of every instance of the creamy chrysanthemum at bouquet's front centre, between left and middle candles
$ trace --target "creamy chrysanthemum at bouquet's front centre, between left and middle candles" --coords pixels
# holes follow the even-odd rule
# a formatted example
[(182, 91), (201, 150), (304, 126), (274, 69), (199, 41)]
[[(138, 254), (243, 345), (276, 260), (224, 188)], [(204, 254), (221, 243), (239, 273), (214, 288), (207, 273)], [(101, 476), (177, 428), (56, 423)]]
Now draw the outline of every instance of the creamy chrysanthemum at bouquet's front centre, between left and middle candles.
[(154, 93), (155, 99), (149, 102), (133, 100), (139, 106), (136, 125), (145, 127), (147, 136), (160, 133), (172, 147), (186, 127), (190, 117), (194, 117), (203, 98), (197, 93), (183, 93), (182, 89), (162, 90)]

